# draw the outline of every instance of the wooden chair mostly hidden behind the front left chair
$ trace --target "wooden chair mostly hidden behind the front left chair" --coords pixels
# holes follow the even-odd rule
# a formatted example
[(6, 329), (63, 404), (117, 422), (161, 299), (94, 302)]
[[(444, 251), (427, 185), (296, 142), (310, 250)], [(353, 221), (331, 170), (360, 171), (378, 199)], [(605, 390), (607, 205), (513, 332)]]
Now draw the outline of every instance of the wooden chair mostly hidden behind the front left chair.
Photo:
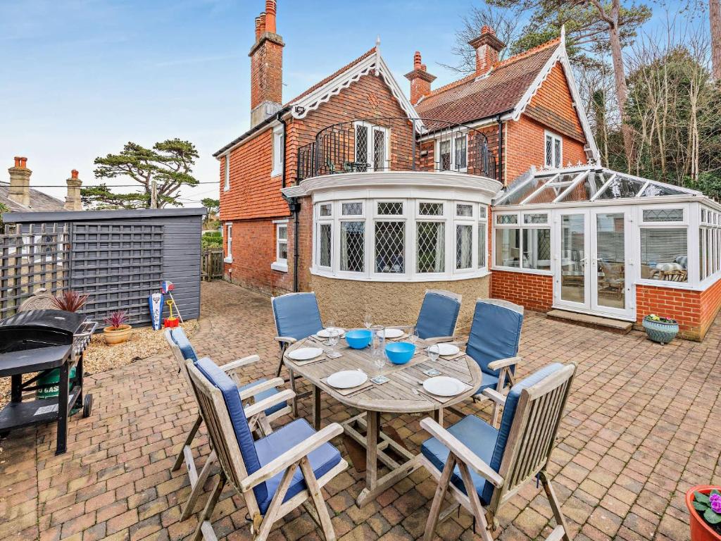
[[(177, 361), (178, 371), (183, 374), (183, 377), (188, 384), (188, 388), (193, 390), (193, 387), (190, 384), (190, 377), (187, 374), (185, 361), (198, 361), (195, 349), (190, 345), (185, 332), (180, 327), (166, 329), (165, 340), (167, 340), (175, 361)], [(270, 426), (270, 421), (275, 421), (275, 419), (291, 413), (291, 406), (288, 405), (288, 400), (292, 399), (293, 396), (289, 391), (278, 391), (277, 387), (283, 387), (284, 383), (281, 378), (270, 379), (270, 381), (266, 379), (258, 379), (249, 384), (238, 384), (239, 369), (249, 366), (259, 360), (260, 357), (252, 355), (245, 357), (244, 359), (224, 364), (220, 367), (220, 369), (234, 379), (234, 382), (238, 387), (240, 400), (243, 402), (253, 400), (254, 403), (252, 405), (247, 405), (245, 408), (246, 415), (249, 419), (248, 423), (251, 427), (250, 430), (257, 432), (260, 436), (265, 436), (273, 432), (273, 428)], [(195, 398), (196, 400), (198, 399), (198, 397)], [(177, 458), (175, 459), (175, 463), (171, 470), (179, 470), (183, 462), (185, 462), (187, 475), (190, 479), (190, 496), (187, 498), (185, 506), (182, 508), (180, 520), (185, 520), (193, 514), (195, 502), (198, 501), (198, 497), (203, 491), (205, 480), (208, 479), (208, 476), (211, 474), (211, 468), (213, 467), (213, 464), (216, 463), (217, 457), (215, 451), (213, 450), (208, 456), (208, 459), (205, 460), (205, 465), (203, 465), (200, 473), (198, 473), (198, 467), (195, 465), (195, 460), (193, 459), (193, 449), (190, 445), (193, 443), (193, 439), (195, 439), (195, 434), (198, 433), (198, 428), (200, 428), (201, 423), (203, 423), (203, 416), (198, 413), (198, 418), (195, 419), (193, 428), (190, 428), (190, 432), (187, 433), (185, 441), (180, 448), (180, 452), (178, 452)]]

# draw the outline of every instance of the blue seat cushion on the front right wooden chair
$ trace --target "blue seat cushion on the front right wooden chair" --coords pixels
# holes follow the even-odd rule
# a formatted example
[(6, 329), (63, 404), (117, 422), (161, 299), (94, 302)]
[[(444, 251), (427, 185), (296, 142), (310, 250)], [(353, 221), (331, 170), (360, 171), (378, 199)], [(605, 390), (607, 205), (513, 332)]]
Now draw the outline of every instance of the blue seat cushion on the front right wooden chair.
[[(496, 439), (498, 431), (490, 426), (490, 424), (477, 418), (475, 415), (468, 415), (459, 421), (458, 423), (448, 428), (448, 432), (456, 436), (461, 443), (471, 449), (471, 452), (476, 454), (477, 457), (483, 460), (486, 464), (490, 464), (493, 449), (495, 449)], [(448, 459), (448, 447), (443, 445), (440, 441), (435, 438), (427, 439), (420, 446), (420, 452), (423, 456), (430, 460), (430, 463), (440, 472), (443, 471), (443, 467), (446, 465)], [(490, 493), (493, 493), (493, 485), (488, 483), (484, 478), (478, 475), (474, 470), (469, 468), (471, 472), (471, 478), (473, 484), (476, 487), (476, 492), (481, 499), (481, 503), (488, 505), (490, 502), (490, 496), (485, 499), (484, 495), (486, 485), (490, 487)], [(466, 494), (466, 487), (463, 484), (463, 478), (461, 478), (461, 470), (456, 466), (453, 475), (451, 475), (451, 483), (456, 485), (456, 488), (463, 491)]]

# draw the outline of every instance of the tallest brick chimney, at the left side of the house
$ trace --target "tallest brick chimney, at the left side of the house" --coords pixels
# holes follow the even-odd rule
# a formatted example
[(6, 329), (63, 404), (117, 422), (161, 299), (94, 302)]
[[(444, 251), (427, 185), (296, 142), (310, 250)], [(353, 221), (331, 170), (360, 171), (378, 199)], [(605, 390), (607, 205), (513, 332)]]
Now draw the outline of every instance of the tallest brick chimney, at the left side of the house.
[(250, 49), (250, 127), (278, 113), (283, 102), (283, 38), (275, 33), (275, 0), (255, 18), (255, 44)]

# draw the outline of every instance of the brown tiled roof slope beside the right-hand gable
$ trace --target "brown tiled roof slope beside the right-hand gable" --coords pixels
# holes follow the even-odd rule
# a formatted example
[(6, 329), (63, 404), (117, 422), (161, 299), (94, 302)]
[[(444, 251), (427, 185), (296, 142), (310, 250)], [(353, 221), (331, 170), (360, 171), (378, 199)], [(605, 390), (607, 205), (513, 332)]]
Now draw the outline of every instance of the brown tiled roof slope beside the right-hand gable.
[(465, 123), (506, 113), (523, 94), (555, 52), (560, 39), (511, 56), (498, 63), (488, 76), (474, 74), (428, 94), (415, 109), (422, 118)]

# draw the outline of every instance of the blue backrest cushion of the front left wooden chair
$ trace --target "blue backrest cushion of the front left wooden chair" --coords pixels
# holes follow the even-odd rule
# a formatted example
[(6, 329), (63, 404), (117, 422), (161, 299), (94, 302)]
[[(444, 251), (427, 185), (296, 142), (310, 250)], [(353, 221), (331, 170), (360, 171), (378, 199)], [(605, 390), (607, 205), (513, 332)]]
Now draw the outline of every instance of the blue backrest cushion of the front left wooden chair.
[[(235, 432), (240, 452), (243, 455), (243, 462), (245, 463), (245, 469), (248, 474), (257, 472), (260, 469), (260, 459), (255, 450), (255, 442), (253, 441), (253, 435), (250, 432), (248, 426), (248, 420), (245, 418), (245, 412), (243, 411), (243, 403), (240, 400), (238, 394), (238, 387), (232, 379), (222, 371), (217, 364), (215, 364), (208, 357), (198, 360), (195, 364), (200, 370), (200, 373), (205, 376), (209, 382), (217, 387), (223, 393), (223, 399), (228, 408), (228, 415), (230, 421), (233, 424), (233, 430)], [(255, 497), (259, 500), (267, 497), (267, 490), (265, 483), (261, 483), (253, 488)]]

